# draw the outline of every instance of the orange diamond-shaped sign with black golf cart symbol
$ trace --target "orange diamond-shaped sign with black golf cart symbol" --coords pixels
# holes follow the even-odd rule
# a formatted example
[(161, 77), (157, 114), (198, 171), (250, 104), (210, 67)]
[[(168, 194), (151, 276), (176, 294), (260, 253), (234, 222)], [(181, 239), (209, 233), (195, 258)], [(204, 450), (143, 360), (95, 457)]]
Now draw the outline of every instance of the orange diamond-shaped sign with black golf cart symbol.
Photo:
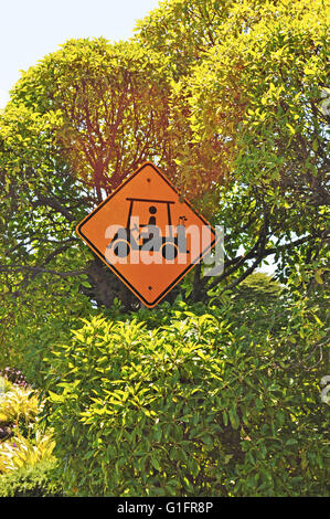
[(76, 232), (149, 308), (215, 244), (206, 220), (151, 162), (125, 180)]

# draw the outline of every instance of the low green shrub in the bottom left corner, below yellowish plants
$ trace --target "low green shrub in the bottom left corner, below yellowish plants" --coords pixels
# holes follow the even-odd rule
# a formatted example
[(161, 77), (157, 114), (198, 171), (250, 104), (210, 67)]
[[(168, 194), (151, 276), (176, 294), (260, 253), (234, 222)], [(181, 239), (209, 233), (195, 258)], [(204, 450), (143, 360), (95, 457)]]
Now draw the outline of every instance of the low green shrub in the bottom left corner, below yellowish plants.
[(61, 497), (62, 485), (53, 478), (55, 463), (10, 470), (0, 476), (0, 497)]

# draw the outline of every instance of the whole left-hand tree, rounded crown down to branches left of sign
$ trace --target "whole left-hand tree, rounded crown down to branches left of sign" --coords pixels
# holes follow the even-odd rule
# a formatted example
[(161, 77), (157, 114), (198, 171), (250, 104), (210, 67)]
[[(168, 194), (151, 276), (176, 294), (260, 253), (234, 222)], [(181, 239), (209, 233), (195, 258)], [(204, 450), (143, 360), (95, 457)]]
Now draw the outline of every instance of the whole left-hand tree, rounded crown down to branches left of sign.
[(40, 274), (86, 274), (93, 288), (83, 289), (97, 304), (120, 290), (125, 298), (96, 257), (77, 252), (73, 229), (127, 172), (171, 152), (161, 67), (136, 43), (99, 39), (70, 41), (23, 74), (1, 119), (8, 290), (18, 295)]

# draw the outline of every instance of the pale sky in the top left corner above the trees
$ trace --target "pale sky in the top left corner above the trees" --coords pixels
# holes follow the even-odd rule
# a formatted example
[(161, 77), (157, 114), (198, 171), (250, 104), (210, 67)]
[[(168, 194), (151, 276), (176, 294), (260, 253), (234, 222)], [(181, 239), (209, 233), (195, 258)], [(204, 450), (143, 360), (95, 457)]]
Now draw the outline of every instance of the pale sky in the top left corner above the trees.
[(0, 0), (0, 108), (20, 77), (71, 38), (132, 35), (159, 0)]

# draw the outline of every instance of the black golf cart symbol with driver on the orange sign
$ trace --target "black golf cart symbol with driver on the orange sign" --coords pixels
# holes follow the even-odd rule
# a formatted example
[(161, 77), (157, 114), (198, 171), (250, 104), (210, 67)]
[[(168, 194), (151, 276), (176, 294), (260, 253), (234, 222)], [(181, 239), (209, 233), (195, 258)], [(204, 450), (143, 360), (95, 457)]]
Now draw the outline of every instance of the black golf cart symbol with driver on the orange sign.
[[(178, 253), (189, 253), (187, 251), (187, 236), (185, 236), (185, 216), (179, 216), (179, 224), (175, 230), (172, 226), (171, 204), (175, 203), (170, 200), (149, 200), (127, 198), (129, 201), (129, 211), (127, 216), (126, 227), (119, 227), (109, 243), (108, 247), (113, 248), (114, 254), (118, 257), (127, 257), (130, 250), (134, 251), (161, 251), (166, 260), (174, 260)], [(139, 224), (139, 229), (135, 224), (131, 227), (131, 215), (135, 202), (149, 203), (149, 221), (146, 224)], [(167, 204), (168, 215), (168, 230), (169, 235), (162, 236), (159, 226), (157, 225), (157, 205)], [(135, 237), (132, 231), (138, 232)], [(173, 232), (175, 231), (175, 232)]]

